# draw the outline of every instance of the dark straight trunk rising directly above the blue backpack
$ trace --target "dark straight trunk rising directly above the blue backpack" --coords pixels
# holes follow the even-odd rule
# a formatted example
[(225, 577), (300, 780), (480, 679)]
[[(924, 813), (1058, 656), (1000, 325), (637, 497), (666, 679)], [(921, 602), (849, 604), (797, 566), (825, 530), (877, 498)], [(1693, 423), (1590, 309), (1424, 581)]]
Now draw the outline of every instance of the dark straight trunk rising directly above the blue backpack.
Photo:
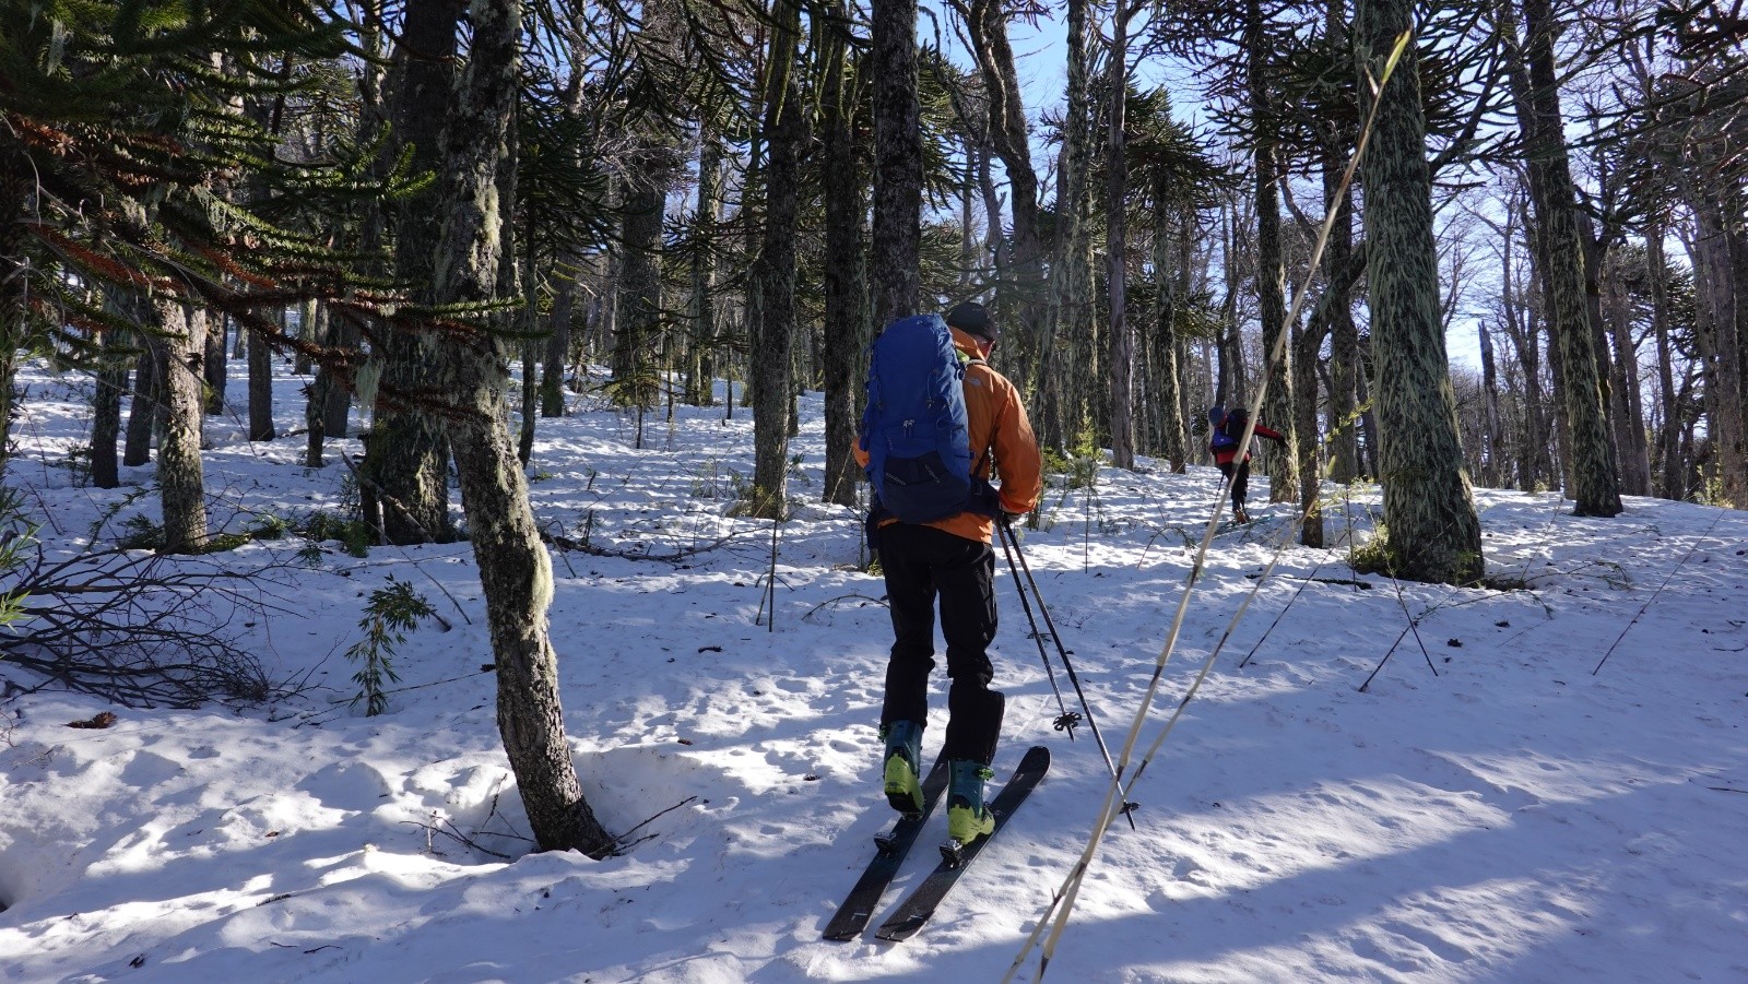
[[(916, 101), (916, 0), (874, 0), (874, 323), (916, 313), (921, 294), (923, 124)], [(755, 409), (757, 412), (757, 409)]]

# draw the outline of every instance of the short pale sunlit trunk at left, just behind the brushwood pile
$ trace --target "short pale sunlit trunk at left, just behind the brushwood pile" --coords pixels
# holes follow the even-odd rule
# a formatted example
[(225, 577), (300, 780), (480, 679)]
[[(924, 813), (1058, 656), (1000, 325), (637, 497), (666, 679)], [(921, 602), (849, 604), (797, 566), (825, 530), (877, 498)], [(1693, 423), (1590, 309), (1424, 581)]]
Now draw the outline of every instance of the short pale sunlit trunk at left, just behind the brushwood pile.
[(164, 439), (157, 449), (157, 488), (164, 509), (164, 552), (198, 554), (206, 547), (206, 482), (201, 472), (201, 423), (206, 320), (191, 318), (171, 295), (152, 299), (170, 358), (164, 365)]

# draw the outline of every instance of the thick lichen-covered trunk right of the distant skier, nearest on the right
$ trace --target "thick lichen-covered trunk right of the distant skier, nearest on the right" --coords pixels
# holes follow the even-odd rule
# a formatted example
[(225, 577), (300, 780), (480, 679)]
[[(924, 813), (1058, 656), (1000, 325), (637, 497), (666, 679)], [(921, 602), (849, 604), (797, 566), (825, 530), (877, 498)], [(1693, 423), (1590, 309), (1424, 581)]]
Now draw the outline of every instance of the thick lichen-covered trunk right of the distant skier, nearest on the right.
[[(1409, 0), (1362, 0), (1355, 9), (1360, 91), (1379, 79), (1397, 38), (1411, 31)], [(1456, 395), (1439, 309), (1432, 224), (1432, 168), (1412, 40), (1377, 94), (1363, 161), (1370, 262), (1374, 398), (1384, 523), (1397, 573), (1470, 584), (1484, 573), (1481, 523), (1456, 432)]]

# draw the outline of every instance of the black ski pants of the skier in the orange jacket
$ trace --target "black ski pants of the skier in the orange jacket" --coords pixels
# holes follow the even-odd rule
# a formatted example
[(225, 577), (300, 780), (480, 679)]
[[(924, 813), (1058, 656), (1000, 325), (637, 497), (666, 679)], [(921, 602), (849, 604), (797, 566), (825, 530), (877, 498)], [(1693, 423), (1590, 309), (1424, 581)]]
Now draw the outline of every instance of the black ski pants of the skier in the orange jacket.
[(995, 551), (933, 526), (893, 523), (879, 531), (879, 563), (891, 608), (891, 659), (881, 725), (928, 724), (935, 668), (935, 598), (947, 640), (947, 738), (942, 755), (988, 766), (1002, 734), (1003, 697), (989, 689), (995, 664)]

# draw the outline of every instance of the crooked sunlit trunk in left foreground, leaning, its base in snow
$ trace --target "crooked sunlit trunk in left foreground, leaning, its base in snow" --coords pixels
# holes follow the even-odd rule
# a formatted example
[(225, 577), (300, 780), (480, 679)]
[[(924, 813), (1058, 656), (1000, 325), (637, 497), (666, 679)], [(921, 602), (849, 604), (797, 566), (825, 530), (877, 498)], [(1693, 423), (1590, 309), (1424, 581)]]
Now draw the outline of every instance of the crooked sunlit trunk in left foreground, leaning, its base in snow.
[[(444, 229), (434, 276), (439, 302), (491, 301), (500, 287), (500, 170), (509, 156), (517, 93), (517, 0), (475, 0), (467, 70), (444, 142)], [(565, 739), (558, 654), (547, 626), (552, 561), (503, 419), (509, 343), (491, 334), (449, 337), (439, 371), (460, 405), (453, 426), (468, 537), (486, 594), (498, 671), (498, 731), (540, 849), (612, 851)]]

